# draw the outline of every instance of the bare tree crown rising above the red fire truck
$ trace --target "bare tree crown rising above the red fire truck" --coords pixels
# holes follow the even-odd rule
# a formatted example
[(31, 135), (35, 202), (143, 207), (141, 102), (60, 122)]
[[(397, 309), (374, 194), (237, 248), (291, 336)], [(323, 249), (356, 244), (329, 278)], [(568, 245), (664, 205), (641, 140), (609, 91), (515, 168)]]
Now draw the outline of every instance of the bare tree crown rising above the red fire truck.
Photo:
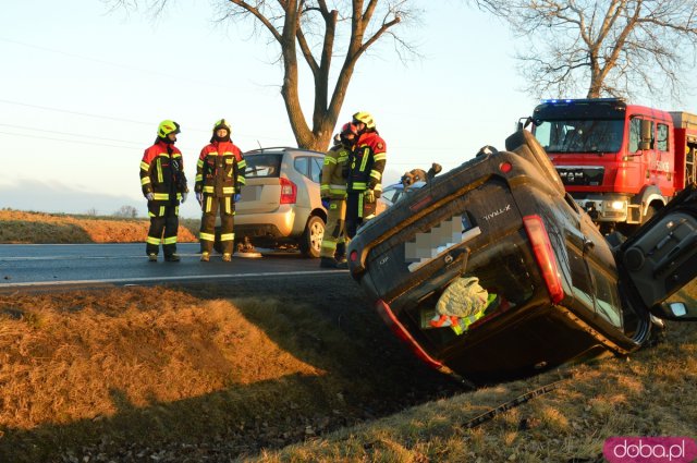
[[(526, 92), (676, 98), (697, 46), (694, 0), (476, 0), (528, 38), (516, 58)], [(587, 87), (586, 87), (587, 86)]]

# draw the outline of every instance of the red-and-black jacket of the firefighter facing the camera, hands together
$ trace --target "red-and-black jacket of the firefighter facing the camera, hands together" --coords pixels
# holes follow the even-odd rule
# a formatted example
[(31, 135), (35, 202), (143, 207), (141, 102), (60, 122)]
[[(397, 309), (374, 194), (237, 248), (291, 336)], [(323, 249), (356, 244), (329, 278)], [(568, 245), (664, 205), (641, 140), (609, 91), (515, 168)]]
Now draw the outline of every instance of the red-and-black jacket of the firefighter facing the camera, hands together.
[(200, 150), (196, 165), (196, 193), (230, 197), (242, 192), (247, 162), (232, 142), (213, 142)]

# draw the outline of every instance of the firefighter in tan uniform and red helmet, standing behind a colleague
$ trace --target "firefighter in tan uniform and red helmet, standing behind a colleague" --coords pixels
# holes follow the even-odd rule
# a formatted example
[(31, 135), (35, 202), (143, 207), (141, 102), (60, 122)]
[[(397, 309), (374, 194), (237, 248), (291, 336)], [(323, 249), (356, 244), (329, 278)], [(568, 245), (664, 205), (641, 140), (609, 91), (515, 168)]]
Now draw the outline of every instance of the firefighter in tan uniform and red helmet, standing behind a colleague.
[[(327, 208), (327, 229), (319, 253), (319, 266), (340, 268), (345, 260), (344, 219), (346, 215), (346, 176), (348, 155), (358, 138), (358, 130), (351, 122), (344, 124), (338, 143), (325, 156), (319, 194)], [(342, 249), (343, 248), (343, 249)]]

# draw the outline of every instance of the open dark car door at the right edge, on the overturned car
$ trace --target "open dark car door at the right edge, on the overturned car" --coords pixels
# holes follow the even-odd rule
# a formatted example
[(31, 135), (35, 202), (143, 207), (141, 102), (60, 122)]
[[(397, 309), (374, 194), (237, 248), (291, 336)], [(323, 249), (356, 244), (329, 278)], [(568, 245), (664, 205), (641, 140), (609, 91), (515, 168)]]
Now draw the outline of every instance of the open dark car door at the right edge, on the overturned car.
[(697, 186), (689, 185), (641, 226), (616, 257), (646, 308), (671, 318), (661, 303), (697, 277)]

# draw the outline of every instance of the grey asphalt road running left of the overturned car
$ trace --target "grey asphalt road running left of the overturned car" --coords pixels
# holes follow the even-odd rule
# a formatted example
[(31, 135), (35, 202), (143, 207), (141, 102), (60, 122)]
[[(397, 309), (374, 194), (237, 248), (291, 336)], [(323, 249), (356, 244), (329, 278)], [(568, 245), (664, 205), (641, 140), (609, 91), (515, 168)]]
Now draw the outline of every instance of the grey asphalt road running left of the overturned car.
[(180, 263), (149, 263), (143, 243), (133, 244), (0, 244), (0, 291), (39, 287), (99, 287), (187, 283), (230, 278), (265, 279), (347, 272), (320, 270), (317, 259), (294, 253), (266, 253), (259, 258), (234, 255), (223, 263), (213, 253), (199, 261), (198, 243), (182, 243)]

